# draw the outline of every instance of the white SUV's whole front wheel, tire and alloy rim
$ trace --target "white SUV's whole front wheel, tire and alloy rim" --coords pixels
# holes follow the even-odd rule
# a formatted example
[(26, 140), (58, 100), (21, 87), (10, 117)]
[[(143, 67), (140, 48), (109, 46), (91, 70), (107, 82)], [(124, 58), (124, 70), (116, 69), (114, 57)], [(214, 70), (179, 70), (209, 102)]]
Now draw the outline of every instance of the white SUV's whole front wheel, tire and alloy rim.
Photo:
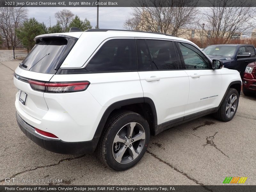
[(219, 110), (214, 114), (214, 116), (224, 122), (230, 121), (236, 114), (238, 102), (238, 92), (236, 89), (229, 88), (224, 100), (220, 105)]

